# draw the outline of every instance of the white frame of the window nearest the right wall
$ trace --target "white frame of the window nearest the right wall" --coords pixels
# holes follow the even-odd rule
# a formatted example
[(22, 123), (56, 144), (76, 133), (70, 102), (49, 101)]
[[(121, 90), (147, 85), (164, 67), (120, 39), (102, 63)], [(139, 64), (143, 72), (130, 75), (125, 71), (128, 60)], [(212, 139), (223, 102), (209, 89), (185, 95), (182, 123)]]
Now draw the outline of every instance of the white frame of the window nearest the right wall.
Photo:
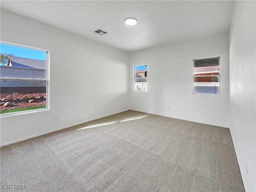
[[(219, 58), (219, 74), (218, 75), (200, 75), (200, 76), (195, 76), (195, 60), (204, 60), (204, 59), (211, 59), (211, 58)], [(193, 59), (193, 94), (194, 95), (216, 95), (216, 96), (220, 96), (221, 95), (221, 86), (220, 86), (220, 75), (221, 75), (221, 56), (212, 56), (212, 57), (204, 57), (204, 58), (196, 58)], [(214, 93), (195, 93), (195, 82), (194, 82), (194, 78), (195, 77), (218, 77), (219, 78), (219, 93), (218, 94), (214, 94)]]

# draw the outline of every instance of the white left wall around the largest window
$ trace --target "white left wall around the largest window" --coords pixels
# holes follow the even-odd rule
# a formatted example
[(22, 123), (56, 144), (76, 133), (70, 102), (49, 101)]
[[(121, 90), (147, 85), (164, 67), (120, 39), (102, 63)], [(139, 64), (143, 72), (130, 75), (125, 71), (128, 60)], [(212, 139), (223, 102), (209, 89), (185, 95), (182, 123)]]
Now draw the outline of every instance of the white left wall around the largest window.
[(2, 146), (129, 109), (128, 53), (6, 10), (1, 41), (50, 50), (50, 110), (1, 117)]

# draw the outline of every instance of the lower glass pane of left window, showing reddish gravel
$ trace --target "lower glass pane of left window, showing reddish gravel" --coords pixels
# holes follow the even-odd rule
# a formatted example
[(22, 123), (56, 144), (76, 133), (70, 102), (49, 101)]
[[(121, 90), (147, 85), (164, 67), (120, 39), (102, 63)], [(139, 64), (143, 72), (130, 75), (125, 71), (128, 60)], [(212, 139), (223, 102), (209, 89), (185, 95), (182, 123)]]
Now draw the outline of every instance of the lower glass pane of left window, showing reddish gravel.
[(46, 108), (46, 81), (1, 80), (0, 112)]

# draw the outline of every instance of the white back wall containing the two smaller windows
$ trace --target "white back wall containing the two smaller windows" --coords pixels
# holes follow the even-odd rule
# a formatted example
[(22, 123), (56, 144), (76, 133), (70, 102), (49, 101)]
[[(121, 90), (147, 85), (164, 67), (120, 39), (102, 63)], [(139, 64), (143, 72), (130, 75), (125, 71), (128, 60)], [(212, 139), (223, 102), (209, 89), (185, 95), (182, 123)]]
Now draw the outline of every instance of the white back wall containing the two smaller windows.
[[(221, 95), (194, 95), (193, 59), (221, 56)], [(133, 91), (133, 66), (148, 65), (148, 92)], [(130, 109), (229, 127), (229, 35), (130, 54)], [(170, 106), (170, 110), (168, 110)]]

